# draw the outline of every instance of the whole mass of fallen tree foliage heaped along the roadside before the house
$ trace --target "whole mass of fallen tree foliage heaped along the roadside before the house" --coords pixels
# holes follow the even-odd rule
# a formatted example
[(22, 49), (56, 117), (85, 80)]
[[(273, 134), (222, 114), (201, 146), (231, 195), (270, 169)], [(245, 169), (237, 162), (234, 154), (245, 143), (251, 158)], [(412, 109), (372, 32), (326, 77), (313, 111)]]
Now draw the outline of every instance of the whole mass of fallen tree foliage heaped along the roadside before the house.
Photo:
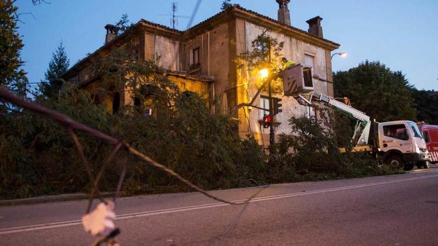
[[(242, 140), (233, 134), (231, 117), (213, 112), (212, 105), (219, 107), (215, 101), (181, 91), (165, 71), (131, 56), (128, 44), (95, 58), (91, 70), (100, 78), (100, 86), (93, 91), (72, 85), (59, 97), (36, 100), (126, 141), (204, 189), (393, 173), (378, 167), (369, 156), (341, 155), (333, 130), (321, 128), (327, 122), (307, 118), (292, 118), (290, 135), (275, 146), (278, 154), (268, 155), (255, 139)], [(110, 114), (94, 97), (114, 90), (132, 91), (140, 103)], [(145, 106), (154, 108), (156, 116), (144, 115)], [(77, 135), (96, 175), (112, 147), (82, 132)], [(102, 191), (115, 189), (126, 159), (124, 195), (188, 191), (178, 180), (125, 151), (106, 170)], [(66, 129), (26, 110), (13, 111), (0, 122), (0, 183), (0, 198), (90, 191), (85, 168)]]

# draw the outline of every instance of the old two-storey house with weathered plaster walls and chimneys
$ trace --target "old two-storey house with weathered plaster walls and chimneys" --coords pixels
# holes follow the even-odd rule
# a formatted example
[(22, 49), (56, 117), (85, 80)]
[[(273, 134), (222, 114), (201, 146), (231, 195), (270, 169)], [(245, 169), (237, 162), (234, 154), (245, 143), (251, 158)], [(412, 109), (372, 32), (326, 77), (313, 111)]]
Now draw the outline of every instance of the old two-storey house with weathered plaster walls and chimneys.
[[(179, 31), (141, 19), (132, 28), (138, 36), (138, 60), (151, 60), (169, 71), (170, 80), (177, 82), (183, 90), (191, 90), (217, 98), (224, 113), (240, 103), (249, 102), (257, 89), (251, 86), (250, 73), (237, 69), (232, 59), (251, 48), (251, 42), (264, 30), (278, 41), (284, 42), (282, 55), (295, 63), (312, 67), (316, 92), (333, 96), (331, 76), (331, 52), (339, 44), (324, 39), (322, 18), (307, 21), (309, 30), (291, 25), (290, 0), (272, 0), (278, 4), (278, 19), (247, 10), (240, 5), (219, 12), (207, 20)], [(87, 69), (93, 56), (108, 54), (112, 47), (122, 42), (113, 25), (107, 25), (106, 43), (96, 52), (80, 61), (62, 78), (67, 82), (93, 87), (96, 79)], [(160, 58), (160, 59), (158, 59)], [(184, 71), (184, 72), (183, 72)], [(293, 97), (274, 94), (282, 98), (283, 112), (275, 116), (275, 134), (289, 133), (288, 119), (293, 115), (317, 117), (312, 107), (300, 105)], [(269, 107), (267, 91), (262, 91), (254, 106)], [(116, 111), (122, 104), (132, 104), (128, 92), (109, 93), (104, 99), (109, 110)], [(269, 144), (269, 129), (263, 129), (263, 110), (242, 107), (233, 114), (235, 131), (239, 136), (253, 135), (261, 144)]]

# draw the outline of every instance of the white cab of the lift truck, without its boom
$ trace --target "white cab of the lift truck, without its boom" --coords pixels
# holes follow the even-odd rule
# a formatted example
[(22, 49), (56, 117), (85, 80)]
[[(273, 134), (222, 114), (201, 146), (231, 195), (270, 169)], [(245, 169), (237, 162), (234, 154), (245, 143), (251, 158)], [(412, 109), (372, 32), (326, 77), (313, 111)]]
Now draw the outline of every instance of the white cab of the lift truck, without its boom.
[(429, 167), (431, 155), (417, 124), (399, 120), (378, 123), (378, 154), (393, 167)]

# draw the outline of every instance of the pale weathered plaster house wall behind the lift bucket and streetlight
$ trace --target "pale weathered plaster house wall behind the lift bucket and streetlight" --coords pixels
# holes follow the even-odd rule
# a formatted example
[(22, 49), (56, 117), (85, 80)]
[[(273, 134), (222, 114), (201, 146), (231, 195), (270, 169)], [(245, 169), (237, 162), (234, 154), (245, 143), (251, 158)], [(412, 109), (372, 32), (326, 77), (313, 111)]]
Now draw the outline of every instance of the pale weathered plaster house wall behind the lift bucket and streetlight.
[[(251, 48), (251, 42), (260, 35), (264, 29), (257, 26), (256, 24), (246, 22), (245, 23), (245, 34), (246, 34), (246, 47), (249, 50)], [(314, 86), (316, 92), (321, 92), (324, 94), (329, 93), (328, 86), (328, 71), (327, 71), (327, 52), (325, 49), (307, 44), (301, 40), (295, 39), (293, 37), (285, 36), (281, 33), (270, 32), (272, 37), (276, 38), (278, 41), (284, 42), (284, 48), (282, 50), (282, 56), (287, 57), (289, 60), (295, 63), (305, 62), (305, 54), (310, 54), (315, 56), (314, 64)], [(250, 75), (249, 75), (250, 76)], [(251, 86), (257, 80), (257, 78), (249, 77), (249, 89), (247, 92), (247, 98), (250, 100), (252, 96), (256, 93), (257, 89)], [(263, 91), (262, 95), (268, 95), (267, 91)], [(274, 97), (282, 98), (282, 109), (283, 113), (278, 114), (274, 117), (274, 122), (281, 123), (276, 124), (275, 134), (290, 133), (290, 127), (288, 126), (288, 119), (292, 116), (303, 116), (307, 114), (307, 107), (300, 105), (293, 97), (282, 96), (281, 94), (274, 94)], [(260, 98), (255, 100), (254, 105), (260, 106)], [(241, 122), (249, 123), (249, 128), (253, 135), (263, 144), (269, 143), (269, 129), (263, 129), (260, 125), (259, 120), (263, 118), (260, 110), (252, 108), (249, 112), (249, 121), (247, 118), (239, 117)], [(245, 129), (245, 125), (242, 124), (241, 131)]]

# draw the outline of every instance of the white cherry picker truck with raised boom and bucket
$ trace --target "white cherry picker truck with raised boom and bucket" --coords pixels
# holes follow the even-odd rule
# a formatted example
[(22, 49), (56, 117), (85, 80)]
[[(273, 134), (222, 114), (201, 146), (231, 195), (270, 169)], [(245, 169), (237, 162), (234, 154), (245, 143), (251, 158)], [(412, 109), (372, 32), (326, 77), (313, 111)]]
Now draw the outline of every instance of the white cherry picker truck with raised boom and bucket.
[[(315, 102), (338, 110), (356, 120), (351, 139), (352, 152), (372, 153), (379, 163), (395, 168), (411, 170), (414, 165), (429, 168), (432, 161), (426, 142), (417, 124), (409, 120), (376, 122), (374, 124), (374, 145), (369, 145), (371, 120), (364, 112), (353, 108), (347, 98), (338, 101), (332, 97), (314, 91), (312, 68), (295, 65), (282, 71), (284, 93), (293, 96), (301, 105), (313, 106)], [(340, 149), (345, 152), (345, 149)]]

